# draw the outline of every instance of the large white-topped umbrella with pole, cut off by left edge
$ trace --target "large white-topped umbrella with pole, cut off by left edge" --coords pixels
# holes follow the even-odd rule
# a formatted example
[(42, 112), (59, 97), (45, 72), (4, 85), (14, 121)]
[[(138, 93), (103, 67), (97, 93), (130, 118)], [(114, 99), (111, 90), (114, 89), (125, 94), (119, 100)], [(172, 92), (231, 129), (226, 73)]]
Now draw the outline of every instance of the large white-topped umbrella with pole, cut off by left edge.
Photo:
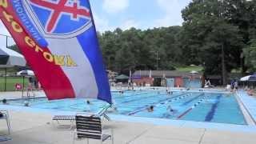
[[(7, 48), (0, 49), (0, 68), (6, 69), (15, 66), (26, 66), (26, 60), (22, 56), (22, 54), (18, 54), (18, 52), (14, 50), (10, 50)], [(5, 91), (6, 91), (6, 77), (5, 77)]]

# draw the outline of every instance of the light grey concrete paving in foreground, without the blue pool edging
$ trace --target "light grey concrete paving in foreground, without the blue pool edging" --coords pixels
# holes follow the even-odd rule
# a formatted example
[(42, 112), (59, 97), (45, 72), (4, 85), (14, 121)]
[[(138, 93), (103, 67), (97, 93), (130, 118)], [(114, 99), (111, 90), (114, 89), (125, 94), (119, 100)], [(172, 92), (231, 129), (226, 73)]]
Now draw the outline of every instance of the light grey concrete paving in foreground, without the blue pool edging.
[[(1, 144), (70, 144), (73, 130), (56, 127), (46, 113), (10, 111), (12, 140)], [(115, 144), (255, 144), (256, 133), (158, 126), (139, 122), (106, 122), (114, 129)], [(6, 123), (0, 121), (0, 134), (6, 134)], [(76, 142), (85, 143), (85, 142)], [(90, 143), (98, 143), (90, 141)], [(106, 142), (110, 143), (110, 142)]]

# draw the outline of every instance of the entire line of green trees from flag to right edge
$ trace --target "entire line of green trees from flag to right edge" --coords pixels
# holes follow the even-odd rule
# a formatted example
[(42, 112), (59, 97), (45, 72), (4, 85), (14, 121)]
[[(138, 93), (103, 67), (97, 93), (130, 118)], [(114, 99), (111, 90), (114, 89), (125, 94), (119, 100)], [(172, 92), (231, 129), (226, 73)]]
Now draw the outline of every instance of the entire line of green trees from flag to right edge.
[(256, 70), (255, 0), (193, 0), (182, 18), (182, 26), (99, 33), (107, 68), (127, 74), (194, 64), (222, 74), (224, 84), (231, 70)]

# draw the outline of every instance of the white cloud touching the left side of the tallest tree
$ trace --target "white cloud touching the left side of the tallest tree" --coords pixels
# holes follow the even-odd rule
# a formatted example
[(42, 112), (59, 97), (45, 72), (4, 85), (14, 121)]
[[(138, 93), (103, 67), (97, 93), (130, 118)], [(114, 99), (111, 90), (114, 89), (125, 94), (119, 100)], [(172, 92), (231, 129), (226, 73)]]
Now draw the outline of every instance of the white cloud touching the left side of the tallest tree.
[(165, 12), (162, 18), (154, 21), (154, 26), (181, 26), (182, 25), (182, 9), (184, 4), (178, 0), (156, 0), (158, 6)]

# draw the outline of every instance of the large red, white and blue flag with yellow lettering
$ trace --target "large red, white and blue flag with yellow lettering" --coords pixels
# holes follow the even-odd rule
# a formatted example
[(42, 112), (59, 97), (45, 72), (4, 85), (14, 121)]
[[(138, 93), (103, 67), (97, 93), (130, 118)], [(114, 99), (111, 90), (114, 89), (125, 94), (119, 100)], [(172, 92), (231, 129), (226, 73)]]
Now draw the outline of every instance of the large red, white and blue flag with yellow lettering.
[(111, 103), (89, 0), (0, 0), (0, 13), (50, 100)]

